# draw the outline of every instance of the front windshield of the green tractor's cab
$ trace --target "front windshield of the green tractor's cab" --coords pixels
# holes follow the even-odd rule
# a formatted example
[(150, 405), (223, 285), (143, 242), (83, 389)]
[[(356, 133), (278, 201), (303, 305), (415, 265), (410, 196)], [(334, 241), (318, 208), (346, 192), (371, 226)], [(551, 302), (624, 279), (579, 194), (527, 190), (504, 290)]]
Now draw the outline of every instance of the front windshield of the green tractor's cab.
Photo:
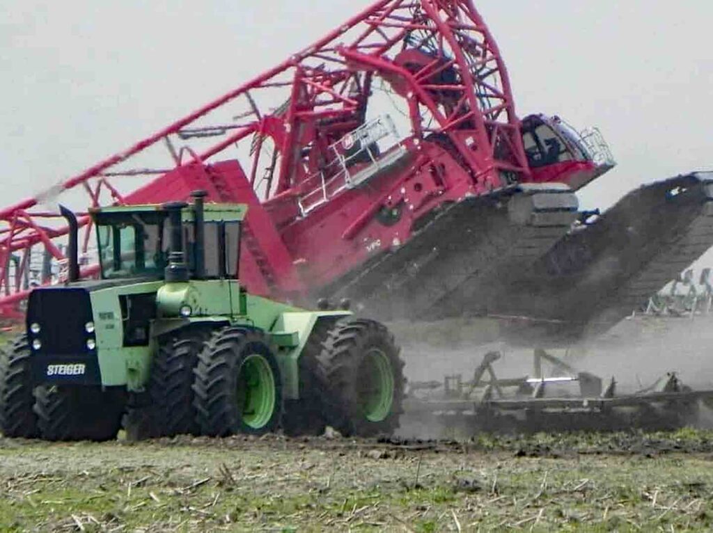
[(164, 219), (156, 212), (99, 214), (96, 232), (102, 277), (162, 277), (168, 256)]

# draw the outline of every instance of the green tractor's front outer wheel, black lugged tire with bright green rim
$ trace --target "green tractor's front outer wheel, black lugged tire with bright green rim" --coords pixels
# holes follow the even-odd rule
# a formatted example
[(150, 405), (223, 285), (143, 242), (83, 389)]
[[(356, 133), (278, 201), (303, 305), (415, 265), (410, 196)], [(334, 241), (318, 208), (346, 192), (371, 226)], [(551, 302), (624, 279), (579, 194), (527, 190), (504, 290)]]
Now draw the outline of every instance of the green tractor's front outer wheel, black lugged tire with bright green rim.
[[(265, 376), (265, 380), (259, 380), (262, 390), (255, 394), (249, 389), (253, 383), (243, 381), (253, 366)], [(214, 333), (198, 357), (193, 391), (202, 435), (262, 435), (275, 431), (279, 425), (282, 378), (277, 359), (261, 331), (230, 327)], [(263, 392), (272, 400), (258, 403), (258, 418), (253, 418), (255, 412), (251, 409)]]

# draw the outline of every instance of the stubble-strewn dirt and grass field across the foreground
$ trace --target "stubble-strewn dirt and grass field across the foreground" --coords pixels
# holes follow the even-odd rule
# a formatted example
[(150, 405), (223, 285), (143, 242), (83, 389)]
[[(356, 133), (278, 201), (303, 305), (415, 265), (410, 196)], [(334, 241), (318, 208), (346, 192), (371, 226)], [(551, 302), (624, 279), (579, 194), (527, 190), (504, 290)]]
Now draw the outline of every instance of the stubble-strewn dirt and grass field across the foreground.
[(0, 440), (3, 531), (713, 527), (713, 433)]

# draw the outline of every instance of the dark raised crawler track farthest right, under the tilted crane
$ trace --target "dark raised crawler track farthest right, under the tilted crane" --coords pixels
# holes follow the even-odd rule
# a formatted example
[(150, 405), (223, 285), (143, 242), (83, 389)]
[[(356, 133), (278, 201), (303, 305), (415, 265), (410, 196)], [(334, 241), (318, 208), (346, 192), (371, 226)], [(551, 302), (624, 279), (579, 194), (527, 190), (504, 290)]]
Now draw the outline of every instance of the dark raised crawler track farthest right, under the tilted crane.
[[(713, 174), (694, 173), (630, 192), (491, 292), (493, 314), (527, 316), (513, 336), (568, 341), (601, 333), (713, 246)], [(519, 330), (519, 331), (518, 331)]]

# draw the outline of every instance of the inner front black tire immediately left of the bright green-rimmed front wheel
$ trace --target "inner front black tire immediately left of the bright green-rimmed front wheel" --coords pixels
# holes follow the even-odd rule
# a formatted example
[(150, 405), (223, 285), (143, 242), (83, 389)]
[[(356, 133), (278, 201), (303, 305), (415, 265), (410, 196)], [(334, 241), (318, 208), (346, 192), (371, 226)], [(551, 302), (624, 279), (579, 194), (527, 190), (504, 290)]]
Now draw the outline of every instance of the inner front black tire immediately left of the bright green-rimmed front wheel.
[(146, 405), (130, 406), (123, 420), (128, 440), (198, 435), (193, 370), (210, 330), (188, 328), (159, 339), (151, 362)]

